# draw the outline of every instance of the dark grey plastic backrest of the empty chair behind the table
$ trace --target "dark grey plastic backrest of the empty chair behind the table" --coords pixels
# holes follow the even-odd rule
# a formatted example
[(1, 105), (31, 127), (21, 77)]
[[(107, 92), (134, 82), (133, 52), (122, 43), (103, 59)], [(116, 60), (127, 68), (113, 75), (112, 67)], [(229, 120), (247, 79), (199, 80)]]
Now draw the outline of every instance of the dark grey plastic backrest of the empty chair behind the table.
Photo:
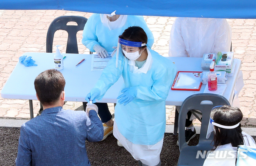
[[(68, 22), (76, 22), (76, 25), (67, 25)], [(82, 16), (60, 16), (55, 18), (50, 24), (46, 36), (46, 52), (52, 53), (52, 44), (54, 33), (57, 30), (65, 30), (68, 32), (68, 42), (66, 53), (78, 53), (76, 34), (80, 30), (84, 30), (87, 18)]]

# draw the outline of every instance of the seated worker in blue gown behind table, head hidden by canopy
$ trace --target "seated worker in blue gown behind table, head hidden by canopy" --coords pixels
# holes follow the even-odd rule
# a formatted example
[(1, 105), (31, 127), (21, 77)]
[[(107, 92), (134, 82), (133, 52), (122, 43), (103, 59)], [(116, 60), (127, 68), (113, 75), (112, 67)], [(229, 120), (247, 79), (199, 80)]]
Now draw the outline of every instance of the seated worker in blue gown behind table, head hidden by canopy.
[[(92, 14), (84, 26), (82, 43), (91, 52), (96, 52), (99, 57), (107, 57), (108, 52), (115, 50), (118, 43), (118, 36), (130, 26), (140, 26), (143, 28), (148, 36), (147, 46), (151, 48), (154, 43), (154, 37), (143, 16)], [(102, 139), (104, 140), (113, 132), (114, 122), (107, 103), (96, 103), (96, 105), (100, 110), (99, 116), (102, 123), (104, 123), (104, 137)], [(85, 107), (86, 105), (84, 105)]]

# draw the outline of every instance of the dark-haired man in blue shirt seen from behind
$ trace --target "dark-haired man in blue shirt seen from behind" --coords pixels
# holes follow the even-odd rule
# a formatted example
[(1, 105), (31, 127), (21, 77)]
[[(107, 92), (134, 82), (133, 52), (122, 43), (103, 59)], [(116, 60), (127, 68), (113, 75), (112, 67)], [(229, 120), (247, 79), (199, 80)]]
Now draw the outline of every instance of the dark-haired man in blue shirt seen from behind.
[(36, 97), (44, 111), (22, 124), (16, 166), (90, 166), (85, 141), (103, 138), (98, 108), (90, 105), (94, 109), (87, 113), (62, 109), (65, 83), (62, 73), (55, 69), (36, 77)]

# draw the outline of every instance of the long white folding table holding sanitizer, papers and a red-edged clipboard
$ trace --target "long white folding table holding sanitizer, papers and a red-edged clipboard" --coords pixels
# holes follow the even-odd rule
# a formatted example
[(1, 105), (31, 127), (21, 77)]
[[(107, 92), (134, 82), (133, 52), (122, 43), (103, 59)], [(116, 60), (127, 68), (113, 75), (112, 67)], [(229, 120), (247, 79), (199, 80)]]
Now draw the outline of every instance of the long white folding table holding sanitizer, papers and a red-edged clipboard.
[[(23, 55), (31, 56), (35, 60), (37, 66), (25, 67), (21, 63), (17, 63), (10, 77), (6, 81), (1, 97), (7, 99), (28, 99), (30, 100), (30, 117), (33, 118), (32, 100), (37, 100), (36, 91), (34, 89), (34, 79), (36, 76), (46, 69), (54, 68), (54, 53), (24, 53)], [(70, 54), (64, 59), (64, 69), (60, 70), (66, 80), (65, 94), (66, 101), (86, 102), (85, 97), (94, 87), (96, 81), (100, 77), (102, 71), (91, 71), (92, 55), (87, 54)], [(81, 64), (75, 65), (85, 58)], [(208, 71), (201, 68), (202, 58), (192, 57), (166, 57), (173, 61), (177, 67), (177, 71)], [(238, 73), (241, 68), (240, 59), (234, 59), (236, 65), (233, 76), (228, 76), (226, 82), (227, 88), (223, 96), (232, 104), (234, 95), (234, 85)], [(116, 103), (116, 97), (122, 87), (123, 79), (120, 79), (106, 92), (101, 103)], [(202, 85), (200, 91), (169, 91), (166, 99), (166, 105), (182, 105), (182, 102), (190, 95), (203, 93), (206, 85)]]

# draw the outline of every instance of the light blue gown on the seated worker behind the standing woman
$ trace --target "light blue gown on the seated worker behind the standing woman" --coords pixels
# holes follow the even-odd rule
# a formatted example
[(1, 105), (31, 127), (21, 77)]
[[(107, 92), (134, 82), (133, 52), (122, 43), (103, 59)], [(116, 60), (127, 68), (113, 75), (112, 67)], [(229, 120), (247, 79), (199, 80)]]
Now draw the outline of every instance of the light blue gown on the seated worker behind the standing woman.
[(146, 32), (148, 36), (147, 46), (151, 48), (154, 43), (154, 36), (148, 28), (143, 16), (130, 15), (127, 16), (124, 26), (109, 30), (108, 27), (102, 24), (100, 14), (92, 14), (84, 26), (82, 43), (86, 48), (90, 49), (91, 52), (95, 52), (93, 49), (95, 44), (99, 44), (108, 52), (112, 52), (114, 51), (113, 46), (117, 46), (118, 36), (122, 35), (124, 30), (130, 26), (139, 26)]

